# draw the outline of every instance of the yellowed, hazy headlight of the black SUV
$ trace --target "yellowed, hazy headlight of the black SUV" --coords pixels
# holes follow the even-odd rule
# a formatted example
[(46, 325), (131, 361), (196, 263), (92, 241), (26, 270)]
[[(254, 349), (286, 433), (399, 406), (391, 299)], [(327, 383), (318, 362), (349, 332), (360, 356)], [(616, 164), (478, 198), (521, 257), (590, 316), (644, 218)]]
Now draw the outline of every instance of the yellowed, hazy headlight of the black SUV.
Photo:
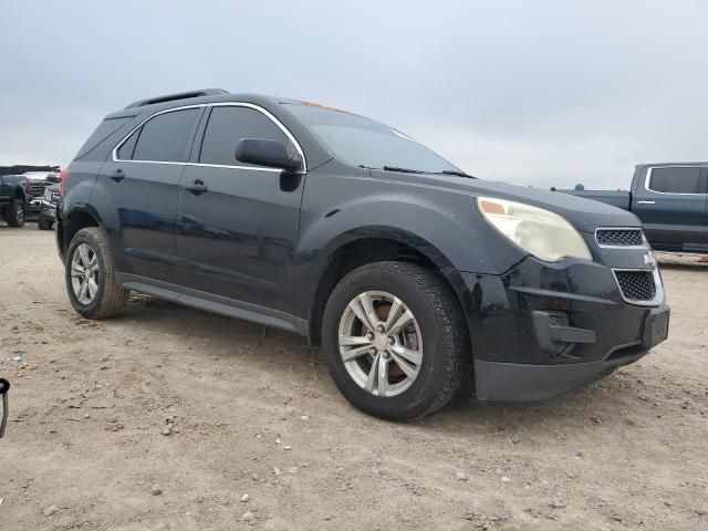
[(477, 208), (499, 232), (543, 261), (593, 258), (577, 230), (549, 210), (493, 197), (478, 197)]

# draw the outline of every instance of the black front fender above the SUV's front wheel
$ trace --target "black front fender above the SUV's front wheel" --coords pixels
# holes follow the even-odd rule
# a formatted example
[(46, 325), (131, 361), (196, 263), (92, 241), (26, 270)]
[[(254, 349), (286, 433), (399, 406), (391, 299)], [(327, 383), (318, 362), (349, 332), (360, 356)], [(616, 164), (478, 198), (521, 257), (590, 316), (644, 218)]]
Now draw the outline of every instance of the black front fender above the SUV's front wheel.
[[(446, 275), (458, 298), (464, 292), (461, 271), (502, 274), (509, 263), (523, 258), (514, 246), (490, 233), (494, 229), (481, 218), (473, 196), (436, 188), (421, 194), (409, 186), (415, 185), (372, 178), (364, 169), (346, 178), (319, 170), (308, 175), (294, 257), (295, 315), (309, 319), (332, 258), (357, 240), (377, 238), (412, 247)], [(333, 197), (352, 199), (335, 206)], [(490, 249), (483, 244), (489, 241), (498, 244)]]

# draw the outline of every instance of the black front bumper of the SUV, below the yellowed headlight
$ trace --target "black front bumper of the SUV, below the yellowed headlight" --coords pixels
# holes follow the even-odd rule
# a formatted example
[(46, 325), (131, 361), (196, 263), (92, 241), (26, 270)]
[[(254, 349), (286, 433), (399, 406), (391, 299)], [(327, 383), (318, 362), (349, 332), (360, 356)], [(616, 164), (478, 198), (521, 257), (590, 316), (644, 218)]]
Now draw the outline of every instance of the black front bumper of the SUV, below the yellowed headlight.
[(613, 268), (598, 262), (528, 257), (503, 275), (461, 275), (480, 400), (555, 398), (667, 336), (663, 295), (654, 305), (628, 303)]

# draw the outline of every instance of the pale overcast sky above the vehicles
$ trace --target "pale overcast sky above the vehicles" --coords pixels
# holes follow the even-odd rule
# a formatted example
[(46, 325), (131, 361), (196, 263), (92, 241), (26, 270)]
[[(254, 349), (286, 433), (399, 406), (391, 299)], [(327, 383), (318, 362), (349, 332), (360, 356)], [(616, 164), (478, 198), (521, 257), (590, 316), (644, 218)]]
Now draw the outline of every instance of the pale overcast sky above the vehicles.
[(2, 0), (0, 165), (202, 87), (346, 108), (481, 178), (627, 187), (708, 159), (705, 1)]

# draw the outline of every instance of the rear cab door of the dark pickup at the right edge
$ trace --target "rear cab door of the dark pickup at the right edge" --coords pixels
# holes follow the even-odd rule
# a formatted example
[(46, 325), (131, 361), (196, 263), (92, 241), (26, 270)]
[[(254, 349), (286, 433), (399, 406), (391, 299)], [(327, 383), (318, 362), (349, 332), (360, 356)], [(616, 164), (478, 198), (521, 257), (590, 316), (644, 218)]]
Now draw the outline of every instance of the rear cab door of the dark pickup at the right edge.
[(706, 246), (706, 168), (649, 167), (633, 196), (647, 239), (657, 249), (701, 250)]

